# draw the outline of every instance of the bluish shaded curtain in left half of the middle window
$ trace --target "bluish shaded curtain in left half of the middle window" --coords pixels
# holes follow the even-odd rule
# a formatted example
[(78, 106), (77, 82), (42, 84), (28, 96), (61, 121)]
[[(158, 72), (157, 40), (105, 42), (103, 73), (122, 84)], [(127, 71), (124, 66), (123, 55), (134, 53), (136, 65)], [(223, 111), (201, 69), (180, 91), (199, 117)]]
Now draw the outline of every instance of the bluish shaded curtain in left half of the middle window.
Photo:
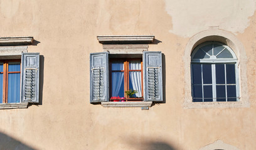
[[(112, 63), (112, 71), (124, 70), (124, 63), (115, 62)], [(124, 72), (112, 73), (112, 96), (119, 96), (119, 91), (122, 83), (124, 82)]]

